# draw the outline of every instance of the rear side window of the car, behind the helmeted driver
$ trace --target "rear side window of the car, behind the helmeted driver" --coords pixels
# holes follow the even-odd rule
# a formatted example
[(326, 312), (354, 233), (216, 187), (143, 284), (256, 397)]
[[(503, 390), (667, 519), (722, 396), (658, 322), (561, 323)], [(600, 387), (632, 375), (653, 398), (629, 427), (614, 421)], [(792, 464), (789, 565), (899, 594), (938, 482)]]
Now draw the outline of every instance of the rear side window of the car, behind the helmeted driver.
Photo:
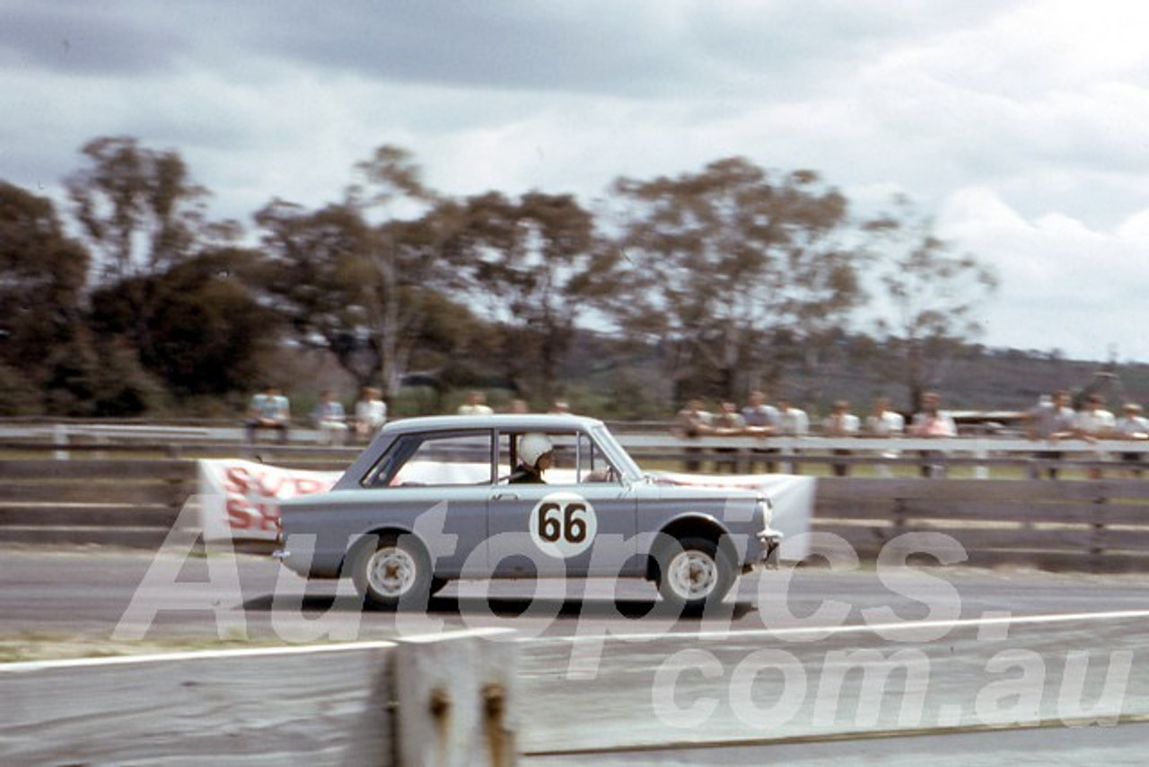
[(363, 485), (489, 484), (491, 440), (489, 431), (403, 435), (379, 458)]

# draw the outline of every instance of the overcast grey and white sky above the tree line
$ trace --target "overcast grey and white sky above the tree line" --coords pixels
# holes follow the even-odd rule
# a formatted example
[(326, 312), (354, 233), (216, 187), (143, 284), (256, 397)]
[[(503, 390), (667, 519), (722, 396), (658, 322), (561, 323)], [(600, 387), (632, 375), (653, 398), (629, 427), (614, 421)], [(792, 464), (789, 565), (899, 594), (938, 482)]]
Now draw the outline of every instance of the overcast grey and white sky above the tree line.
[(986, 343), (1149, 361), (1147, 40), (1141, 0), (0, 0), (0, 178), (133, 136), (249, 223), (381, 144), (586, 204), (741, 155), (911, 197), (996, 267)]

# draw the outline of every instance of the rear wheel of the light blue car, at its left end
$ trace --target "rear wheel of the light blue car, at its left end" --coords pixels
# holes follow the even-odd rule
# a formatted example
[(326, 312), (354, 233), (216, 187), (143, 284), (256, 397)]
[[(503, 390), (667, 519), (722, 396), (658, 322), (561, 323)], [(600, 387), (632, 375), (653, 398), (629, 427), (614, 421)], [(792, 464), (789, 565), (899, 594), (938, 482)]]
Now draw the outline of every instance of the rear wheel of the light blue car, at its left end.
[(426, 607), (431, 563), (410, 536), (383, 535), (353, 560), (352, 580), (367, 604), (384, 609)]

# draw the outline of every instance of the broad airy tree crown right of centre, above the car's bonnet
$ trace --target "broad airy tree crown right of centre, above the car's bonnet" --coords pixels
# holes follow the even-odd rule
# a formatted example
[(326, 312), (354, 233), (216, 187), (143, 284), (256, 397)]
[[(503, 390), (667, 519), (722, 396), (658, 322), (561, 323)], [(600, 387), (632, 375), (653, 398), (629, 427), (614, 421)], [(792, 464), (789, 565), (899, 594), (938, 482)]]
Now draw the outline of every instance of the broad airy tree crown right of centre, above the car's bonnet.
[(626, 268), (610, 308), (662, 344), (678, 389), (734, 397), (766, 374), (772, 336), (817, 338), (862, 298), (861, 253), (840, 240), (846, 198), (811, 171), (731, 158), (614, 191)]

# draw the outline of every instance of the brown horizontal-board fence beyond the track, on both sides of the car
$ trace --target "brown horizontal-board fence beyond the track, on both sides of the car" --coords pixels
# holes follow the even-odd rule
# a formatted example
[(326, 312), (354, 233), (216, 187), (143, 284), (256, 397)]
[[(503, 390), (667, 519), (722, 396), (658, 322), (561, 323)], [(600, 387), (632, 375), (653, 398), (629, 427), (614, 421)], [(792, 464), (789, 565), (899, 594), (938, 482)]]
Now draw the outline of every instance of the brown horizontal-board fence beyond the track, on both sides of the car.
[[(280, 459), (307, 468), (349, 460)], [(184, 459), (0, 460), (0, 542), (159, 547), (195, 481), (195, 461)], [(904, 532), (939, 532), (974, 565), (1144, 570), (1149, 482), (820, 477), (813, 529), (866, 560)]]

